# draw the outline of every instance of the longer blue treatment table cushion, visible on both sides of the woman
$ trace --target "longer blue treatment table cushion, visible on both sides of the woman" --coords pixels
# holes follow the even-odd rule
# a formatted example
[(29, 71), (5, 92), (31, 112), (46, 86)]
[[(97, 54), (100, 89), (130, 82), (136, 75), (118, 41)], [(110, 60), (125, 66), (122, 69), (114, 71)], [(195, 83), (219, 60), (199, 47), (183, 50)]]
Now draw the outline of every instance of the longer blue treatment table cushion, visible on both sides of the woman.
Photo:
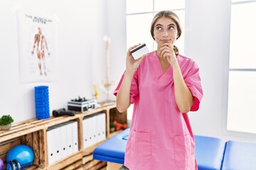
[[(97, 146), (93, 152), (93, 159), (107, 163), (124, 164), (124, 152), (129, 137), (129, 128), (119, 132), (110, 139)], [(215, 137), (195, 135), (196, 161), (199, 170), (221, 169), (225, 141)], [(109, 166), (109, 165), (108, 165)]]

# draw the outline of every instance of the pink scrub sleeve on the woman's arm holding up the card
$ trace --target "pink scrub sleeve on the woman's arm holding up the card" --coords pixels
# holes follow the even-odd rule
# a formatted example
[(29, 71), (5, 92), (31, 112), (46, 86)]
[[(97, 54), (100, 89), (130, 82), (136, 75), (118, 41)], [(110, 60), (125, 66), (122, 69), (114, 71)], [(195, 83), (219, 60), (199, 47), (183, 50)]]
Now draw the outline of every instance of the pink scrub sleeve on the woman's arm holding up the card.
[[(114, 90), (114, 96), (117, 96), (117, 93), (120, 89), (123, 79), (124, 79), (124, 74), (122, 74), (122, 77), (121, 77), (119, 83), (117, 84), (117, 88)], [(131, 90), (130, 90), (130, 103), (133, 104), (138, 95), (139, 95), (138, 72), (135, 72), (134, 77), (132, 79)]]

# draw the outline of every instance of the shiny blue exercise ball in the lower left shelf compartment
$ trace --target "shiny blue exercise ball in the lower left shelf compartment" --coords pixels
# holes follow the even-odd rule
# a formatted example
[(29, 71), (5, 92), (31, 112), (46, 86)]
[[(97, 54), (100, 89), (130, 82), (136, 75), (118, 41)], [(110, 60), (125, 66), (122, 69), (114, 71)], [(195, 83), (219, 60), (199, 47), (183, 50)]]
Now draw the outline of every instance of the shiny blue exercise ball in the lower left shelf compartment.
[(13, 161), (16, 159), (21, 165), (28, 165), (33, 163), (34, 154), (30, 147), (26, 145), (17, 145), (9, 150), (6, 161)]

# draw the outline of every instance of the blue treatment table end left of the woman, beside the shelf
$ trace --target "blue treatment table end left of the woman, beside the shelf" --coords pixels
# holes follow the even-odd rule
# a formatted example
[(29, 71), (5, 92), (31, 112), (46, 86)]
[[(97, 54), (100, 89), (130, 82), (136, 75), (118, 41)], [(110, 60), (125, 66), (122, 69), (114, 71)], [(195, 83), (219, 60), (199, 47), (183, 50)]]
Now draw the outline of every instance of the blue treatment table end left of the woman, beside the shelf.
[(93, 159), (105, 162), (124, 164), (124, 152), (127, 145), (129, 128), (119, 132), (110, 139), (97, 146), (93, 152)]

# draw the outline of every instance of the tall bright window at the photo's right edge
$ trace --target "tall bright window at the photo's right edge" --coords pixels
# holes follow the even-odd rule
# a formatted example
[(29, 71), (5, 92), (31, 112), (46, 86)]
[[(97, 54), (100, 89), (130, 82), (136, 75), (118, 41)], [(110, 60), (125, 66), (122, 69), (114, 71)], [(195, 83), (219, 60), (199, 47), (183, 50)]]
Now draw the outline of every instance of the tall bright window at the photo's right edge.
[(256, 133), (256, 1), (233, 0), (227, 130)]

